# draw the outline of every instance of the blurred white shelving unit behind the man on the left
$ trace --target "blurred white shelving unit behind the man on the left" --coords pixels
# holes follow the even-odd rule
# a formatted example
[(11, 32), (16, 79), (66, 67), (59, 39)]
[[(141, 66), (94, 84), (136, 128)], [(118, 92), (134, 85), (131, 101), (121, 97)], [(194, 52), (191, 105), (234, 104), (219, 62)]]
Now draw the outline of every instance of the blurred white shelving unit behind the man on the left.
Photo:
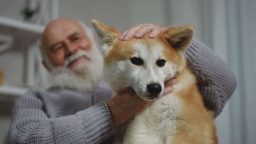
[[(46, 70), (41, 64), (41, 55), (37, 42), (44, 31), (45, 26), (43, 24), (47, 24), (52, 19), (58, 17), (58, 1), (28, 0), (27, 2), (29, 3), (26, 4), (30, 8), (34, 9), (39, 6), (35, 23), (0, 16), (0, 34), (2, 34), (0, 42), (5, 44), (0, 47), (0, 54), (3, 52), (8, 53), (10, 49), (22, 49), (25, 63), (23, 68), (23, 72), (25, 72), (23, 78), (25, 86), (14, 86), (11, 83), (6, 84), (6, 81), (4, 81), (4, 85), (0, 85), (0, 95), (19, 96), (33, 87), (41, 87), (48, 82)], [(10, 72), (8, 67), (5, 67), (5, 69), (7, 69), (7, 72)]]

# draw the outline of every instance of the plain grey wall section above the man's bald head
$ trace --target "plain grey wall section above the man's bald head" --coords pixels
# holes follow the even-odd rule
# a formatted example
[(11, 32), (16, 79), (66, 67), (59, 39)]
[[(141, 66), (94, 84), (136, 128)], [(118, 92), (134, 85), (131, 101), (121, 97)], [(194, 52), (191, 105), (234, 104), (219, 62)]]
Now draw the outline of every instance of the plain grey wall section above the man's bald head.
[(117, 27), (130, 27), (129, 0), (59, 0), (59, 17), (80, 19), (91, 27), (91, 20)]

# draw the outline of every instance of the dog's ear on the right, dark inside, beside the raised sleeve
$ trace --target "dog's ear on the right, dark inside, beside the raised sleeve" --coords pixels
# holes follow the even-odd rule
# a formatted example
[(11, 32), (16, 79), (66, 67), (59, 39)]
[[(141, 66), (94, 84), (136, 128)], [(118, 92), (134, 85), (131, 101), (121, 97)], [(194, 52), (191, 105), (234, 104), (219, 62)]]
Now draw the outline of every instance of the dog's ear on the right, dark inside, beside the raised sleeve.
[(174, 49), (184, 54), (192, 41), (194, 30), (193, 26), (169, 27), (164, 32), (164, 37)]

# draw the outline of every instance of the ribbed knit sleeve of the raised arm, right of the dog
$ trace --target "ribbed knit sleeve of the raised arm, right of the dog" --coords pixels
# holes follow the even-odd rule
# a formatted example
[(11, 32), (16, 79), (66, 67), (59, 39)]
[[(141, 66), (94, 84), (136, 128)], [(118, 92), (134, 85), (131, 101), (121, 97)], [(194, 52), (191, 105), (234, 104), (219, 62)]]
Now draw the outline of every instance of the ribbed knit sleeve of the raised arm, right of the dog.
[(212, 50), (197, 39), (186, 51), (190, 69), (197, 75), (197, 83), (205, 106), (219, 115), (236, 89), (233, 72)]

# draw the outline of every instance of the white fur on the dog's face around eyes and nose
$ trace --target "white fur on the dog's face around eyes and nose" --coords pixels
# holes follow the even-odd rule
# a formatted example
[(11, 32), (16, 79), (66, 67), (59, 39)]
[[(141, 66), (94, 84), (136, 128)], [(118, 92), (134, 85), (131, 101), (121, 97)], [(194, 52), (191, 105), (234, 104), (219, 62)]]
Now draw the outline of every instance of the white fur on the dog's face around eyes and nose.
[[(158, 83), (161, 85), (162, 90), (155, 98), (160, 98), (165, 90), (164, 82), (174, 77), (178, 70), (177, 65), (166, 60), (163, 54), (164, 45), (160, 43), (146, 45), (146, 43), (137, 42), (132, 44), (131, 47), (134, 50), (131, 58), (141, 58), (144, 63), (135, 65), (131, 63), (130, 59), (107, 63), (105, 65), (107, 81), (116, 90), (130, 86), (140, 98), (146, 100), (149, 100), (148, 97), (150, 97), (147, 85)], [(163, 67), (159, 67), (156, 64), (157, 60), (160, 59), (166, 60)]]

